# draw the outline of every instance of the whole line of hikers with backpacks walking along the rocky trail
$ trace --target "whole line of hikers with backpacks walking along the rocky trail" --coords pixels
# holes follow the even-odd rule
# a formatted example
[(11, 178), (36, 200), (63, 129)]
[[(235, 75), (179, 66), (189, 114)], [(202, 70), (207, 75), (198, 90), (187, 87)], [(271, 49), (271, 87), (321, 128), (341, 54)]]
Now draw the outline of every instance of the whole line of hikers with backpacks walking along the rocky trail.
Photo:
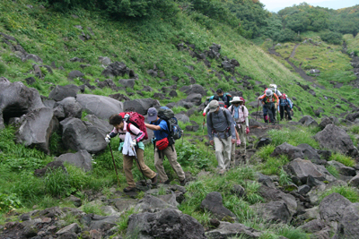
[[(276, 109), (281, 119), (284, 114), (291, 120), (292, 101), (276, 90), (276, 85), (270, 85), (264, 94), (258, 97), (263, 104), (263, 115), (266, 123), (275, 124)], [(258, 101), (258, 102), (259, 102)], [(208, 98), (204, 109), (207, 123), (207, 134), (209, 144), (215, 146), (215, 157), (218, 162), (218, 173), (223, 175), (227, 170), (236, 165), (235, 149), (239, 148), (241, 158), (248, 164), (246, 141), (250, 132), (249, 111), (245, 107), (245, 99), (232, 97), (229, 93), (223, 93), (222, 89), (216, 90), (216, 95)], [(144, 123), (144, 116), (136, 112), (120, 113), (109, 117), (109, 124), (113, 125), (112, 132), (106, 135), (105, 141), (117, 136), (120, 138), (118, 150), (123, 154), (123, 168), (128, 186), (124, 192), (136, 191), (136, 184), (132, 175), (133, 162), (141, 173), (151, 179), (153, 185), (158, 183), (158, 176), (162, 184), (170, 184), (163, 167), (163, 160), (166, 157), (179, 177), (180, 184), (187, 183), (185, 173), (177, 161), (175, 140), (180, 139), (182, 131), (177, 119), (168, 107), (156, 109), (151, 107), (147, 111), (149, 124)], [(268, 116), (269, 115), (269, 118)], [(268, 122), (269, 120), (269, 122)], [(152, 130), (154, 138), (154, 166), (155, 173), (144, 164), (144, 143), (147, 139), (147, 129)]]

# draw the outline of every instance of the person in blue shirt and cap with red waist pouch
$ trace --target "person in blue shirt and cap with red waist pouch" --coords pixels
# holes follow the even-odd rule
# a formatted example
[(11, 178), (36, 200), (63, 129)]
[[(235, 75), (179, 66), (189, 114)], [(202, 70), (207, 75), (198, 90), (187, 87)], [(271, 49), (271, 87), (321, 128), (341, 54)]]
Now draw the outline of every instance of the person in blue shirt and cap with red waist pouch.
[[(177, 152), (174, 147), (174, 140), (169, 137), (169, 126), (166, 121), (162, 120), (158, 116), (157, 109), (151, 107), (147, 111), (148, 121), (150, 124), (144, 124), (148, 129), (153, 130), (155, 139), (153, 143), (155, 144), (154, 147), (154, 166), (157, 169), (158, 174), (160, 175), (160, 180), (163, 184), (170, 184), (170, 179), (164, 172), (163, 168), (163, 160), (164, 156), (167, 157), (169, 163), (173, 170), (176, 172), (180, 179), (180, 185), (184, 186), (186, 181), (185, 173), (183, 172), (182, 167), (180, 166), (179, 162), (177, 162)], [(161, 144), (167, 144), (164, 149), (159, 149), (162, 147)]]

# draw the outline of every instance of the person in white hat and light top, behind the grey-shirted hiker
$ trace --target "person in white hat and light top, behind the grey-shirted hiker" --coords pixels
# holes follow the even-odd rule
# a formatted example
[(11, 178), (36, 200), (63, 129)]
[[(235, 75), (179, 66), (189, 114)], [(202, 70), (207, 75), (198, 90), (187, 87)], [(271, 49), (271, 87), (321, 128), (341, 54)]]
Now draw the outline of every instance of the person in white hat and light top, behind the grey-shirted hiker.
[[(244, 106), (244, 98), (242, 97), (234, 97), (231, 101), (232, 106), (228, 108), (228, 110), (232, 114), (232, 118), (235, 123), (235, 129), (236, 129), (236, 136), (239, 134), (239, 137), (237, 137), (237, 146), (240, 146), (240, 152), (241, 156), (244, 159), (246, 158), (246, 141), (247, 137), (246, 135), (250, 132), (250, 124), (248, 121), (248, 109)], [(231, 161), (232, 166), (235, 166), (235, 144), (232, 144), (232, 154), (231, 154)]]

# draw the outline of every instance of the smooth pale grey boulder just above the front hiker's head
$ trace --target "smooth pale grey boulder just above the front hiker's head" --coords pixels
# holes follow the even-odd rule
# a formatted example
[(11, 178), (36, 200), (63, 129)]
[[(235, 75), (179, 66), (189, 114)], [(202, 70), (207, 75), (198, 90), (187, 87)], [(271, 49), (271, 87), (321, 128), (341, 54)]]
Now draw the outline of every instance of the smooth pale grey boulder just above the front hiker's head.
[(104, 120), (109, 120), (110, 115), (123, 111), (123, 103), (109, 97), (80, 94), (77, 95), (76, 100), (88, 114)]

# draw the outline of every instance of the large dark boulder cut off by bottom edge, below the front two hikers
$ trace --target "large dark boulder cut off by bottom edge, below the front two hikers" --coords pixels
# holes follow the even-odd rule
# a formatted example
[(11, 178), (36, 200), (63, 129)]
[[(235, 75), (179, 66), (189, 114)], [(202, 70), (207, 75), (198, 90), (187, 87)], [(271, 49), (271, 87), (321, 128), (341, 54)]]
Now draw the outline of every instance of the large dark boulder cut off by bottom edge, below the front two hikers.
[(206, 239), (206, 235), (195, 218), (176, 209), (163, 209), (158, 213), (132, 214), (128, 218), (127, 238)]

